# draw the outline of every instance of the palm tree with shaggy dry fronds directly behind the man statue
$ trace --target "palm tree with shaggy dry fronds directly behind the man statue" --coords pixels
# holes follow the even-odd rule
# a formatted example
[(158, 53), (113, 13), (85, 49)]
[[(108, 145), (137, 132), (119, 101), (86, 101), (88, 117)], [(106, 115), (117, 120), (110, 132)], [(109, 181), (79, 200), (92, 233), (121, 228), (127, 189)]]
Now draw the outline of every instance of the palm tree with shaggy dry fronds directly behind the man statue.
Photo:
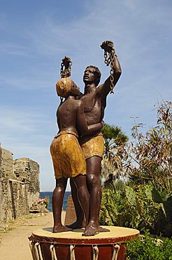
[(101, 163), (101, 176), (107, 179), (119, 178), (122, 172), (122, 160), (118, 150), (122, 149), (129, 138), (119, 126), (105, 124), (101, 129), (104, 138), (104, 152)]

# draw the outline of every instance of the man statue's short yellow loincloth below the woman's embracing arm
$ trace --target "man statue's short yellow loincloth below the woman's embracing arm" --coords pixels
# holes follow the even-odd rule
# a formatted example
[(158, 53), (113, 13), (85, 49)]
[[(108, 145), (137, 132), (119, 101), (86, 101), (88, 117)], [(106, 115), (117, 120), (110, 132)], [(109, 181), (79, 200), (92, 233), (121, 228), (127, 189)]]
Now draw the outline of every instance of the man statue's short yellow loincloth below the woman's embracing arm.
[(103, 157), (104, 141), (101, 133), (96, 134), (95, 136), (82, 136), (79, 142), (85, 160), (92, 156)]

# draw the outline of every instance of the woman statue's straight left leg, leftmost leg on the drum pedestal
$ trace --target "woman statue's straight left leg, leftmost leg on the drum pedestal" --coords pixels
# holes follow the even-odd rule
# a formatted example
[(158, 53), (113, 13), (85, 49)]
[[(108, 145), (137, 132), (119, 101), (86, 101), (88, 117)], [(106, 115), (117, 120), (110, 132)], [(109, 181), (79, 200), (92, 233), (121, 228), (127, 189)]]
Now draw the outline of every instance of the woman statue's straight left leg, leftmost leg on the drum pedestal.
[(64, 193), (66, 190), (67, 178), (57, 178), (55, 190), (52, 193), (52, 213), (54, 218), (54, 226), (52, 228), (53, 233), (70, 231), (71, 228), (67, 228), (62, 225), (62, 205), (64, 200)]

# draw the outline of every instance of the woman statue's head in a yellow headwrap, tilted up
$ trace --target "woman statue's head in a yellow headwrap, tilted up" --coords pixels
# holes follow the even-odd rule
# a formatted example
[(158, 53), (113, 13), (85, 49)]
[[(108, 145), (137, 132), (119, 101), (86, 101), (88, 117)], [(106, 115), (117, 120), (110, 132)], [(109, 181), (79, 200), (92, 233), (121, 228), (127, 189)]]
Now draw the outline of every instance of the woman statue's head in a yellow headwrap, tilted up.
[(69, 77), (59, 79), (56, 84), (57, 95), (62, 98), (67, 98), (69, 95), (78, 96), (80, 89)]

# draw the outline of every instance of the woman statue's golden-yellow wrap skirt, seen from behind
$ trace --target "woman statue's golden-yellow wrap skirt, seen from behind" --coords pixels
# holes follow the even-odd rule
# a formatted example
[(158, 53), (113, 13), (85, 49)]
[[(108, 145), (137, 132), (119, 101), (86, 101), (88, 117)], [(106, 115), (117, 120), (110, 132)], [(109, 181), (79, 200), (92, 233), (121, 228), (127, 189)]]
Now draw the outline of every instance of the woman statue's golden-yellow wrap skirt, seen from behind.
[(71, 131), (61, 131), (50, 145), (55, 178), (71, 178), (86, 174), (86, 162), (78, 143), (78, 136)]

